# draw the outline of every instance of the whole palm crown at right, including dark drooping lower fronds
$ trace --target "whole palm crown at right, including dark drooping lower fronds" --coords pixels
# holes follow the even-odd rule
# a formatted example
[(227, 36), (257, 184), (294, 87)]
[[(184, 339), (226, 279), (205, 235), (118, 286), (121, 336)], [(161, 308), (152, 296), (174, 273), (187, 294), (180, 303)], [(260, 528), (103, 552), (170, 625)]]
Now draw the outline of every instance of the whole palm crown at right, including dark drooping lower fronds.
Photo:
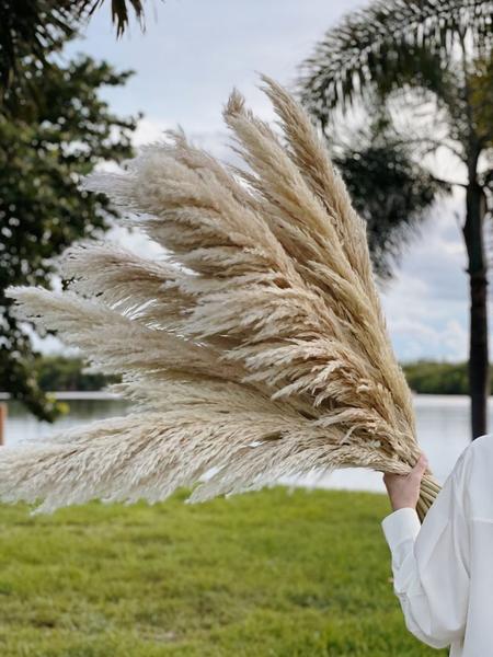
[[(425, 168), (428, 153), (448, 149), (490, 184), (492, 20), (491, 0), (377, 0), (329, 30), (303, 62), (302, 100), (332, 148), (335, 108), (366, 107), (363, 146), (359, 132), (343, 145), (340, 166), (387, 277), (433, 199), (451, 189)], [(398, 126), (402, 114), (411, 125)]]

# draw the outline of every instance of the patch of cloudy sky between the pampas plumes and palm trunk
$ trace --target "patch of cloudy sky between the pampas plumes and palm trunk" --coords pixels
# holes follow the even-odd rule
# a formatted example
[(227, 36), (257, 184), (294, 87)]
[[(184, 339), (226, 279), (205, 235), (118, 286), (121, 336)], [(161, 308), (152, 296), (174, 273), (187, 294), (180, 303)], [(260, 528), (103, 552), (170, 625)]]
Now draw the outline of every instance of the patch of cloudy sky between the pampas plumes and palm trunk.
[(460, 195), (439, 204), (382, 291), (389, 333), (402, 360), (467, 358), (469, 280), (457, 223), (462, 216)]

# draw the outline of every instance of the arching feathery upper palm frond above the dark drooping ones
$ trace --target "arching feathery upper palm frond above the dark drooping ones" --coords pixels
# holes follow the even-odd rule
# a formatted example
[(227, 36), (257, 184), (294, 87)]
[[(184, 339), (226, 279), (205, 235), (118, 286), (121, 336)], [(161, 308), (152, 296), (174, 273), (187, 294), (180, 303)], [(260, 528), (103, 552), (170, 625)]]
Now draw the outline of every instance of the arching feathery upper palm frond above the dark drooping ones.
[(324, 123), (328, 111), (347, 106), (368, 88), (402, 85), (413, 77), (425, 85), (439, 84), (439, 66), (428, 60), (446, 67), (458, 38), (485, 57), (492, 22), (491, 0), (377, 0), (330, 28), (303, 62), (302, 100)]

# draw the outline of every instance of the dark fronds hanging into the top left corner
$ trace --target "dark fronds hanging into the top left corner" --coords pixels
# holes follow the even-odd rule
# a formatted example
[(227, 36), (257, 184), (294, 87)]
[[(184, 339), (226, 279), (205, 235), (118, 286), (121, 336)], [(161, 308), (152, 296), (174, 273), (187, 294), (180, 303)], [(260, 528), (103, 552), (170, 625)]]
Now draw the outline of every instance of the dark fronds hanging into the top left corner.
[[(41, 64), (46, 53), (73, 34), (73, 28), (105, 0), (2, 0), (0, 3), (0, 80), (9, 87), (18, 62), (31, 55)], [(142, 23), (142, 0), (111, 0), (112, 19), (121, 36), (128, 26), (128, 8)]]

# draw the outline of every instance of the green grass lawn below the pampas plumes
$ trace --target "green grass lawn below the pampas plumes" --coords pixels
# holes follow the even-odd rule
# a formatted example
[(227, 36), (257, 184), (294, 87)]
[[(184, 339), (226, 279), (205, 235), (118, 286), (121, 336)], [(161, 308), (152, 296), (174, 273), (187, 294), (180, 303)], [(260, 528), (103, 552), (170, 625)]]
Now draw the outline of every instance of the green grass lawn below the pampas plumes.
[(446, 655), (404, 627), (387, 497), (0, 507), (2, 657)]

